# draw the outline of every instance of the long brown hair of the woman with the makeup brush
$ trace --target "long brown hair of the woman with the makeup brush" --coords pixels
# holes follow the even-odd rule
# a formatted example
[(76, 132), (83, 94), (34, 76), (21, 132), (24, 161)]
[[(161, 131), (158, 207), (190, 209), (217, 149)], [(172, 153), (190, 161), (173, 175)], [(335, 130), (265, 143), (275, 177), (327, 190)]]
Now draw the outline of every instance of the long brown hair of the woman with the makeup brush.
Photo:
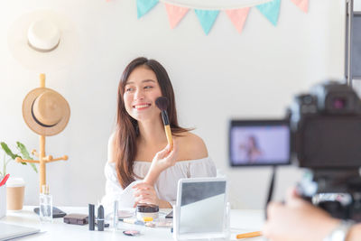
[(156, 60), (148, 60), (143, 57), (132, 60), (126, 66), (119, 82), (117, 92), (115, 146), (113, 148), (116, 157), (116, 173), (123, 188), (134, 181), (133, 166), (137, 152), (136, 139), (139, 136), (138, 122), (126, 112), (123, 95), (125, 93), (125, 85), (129, 75), (139, 66), (144, 66), (153, 70), (158, 79), (159, 86), (161, 87), (162, 96), (167, 97), (169, 100), (167, 112), (170, 119), (171, 132), (173, 134), (180, 134), (189, 130), (178, 125), (174, 91), (167, 71)]

